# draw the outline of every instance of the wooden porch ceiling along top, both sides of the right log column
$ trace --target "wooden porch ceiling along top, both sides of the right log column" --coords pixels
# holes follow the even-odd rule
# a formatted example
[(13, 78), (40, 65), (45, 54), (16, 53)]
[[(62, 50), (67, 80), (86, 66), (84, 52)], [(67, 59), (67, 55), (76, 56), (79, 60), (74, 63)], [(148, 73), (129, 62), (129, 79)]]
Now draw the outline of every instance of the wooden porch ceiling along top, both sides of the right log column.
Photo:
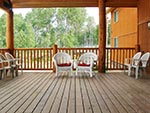
[[(5, 0), (7, 1), (7, 0)], [(10, 0), (13, 8), (98, 7), (99, 0)], [(135, 7), (138, 0), (105, 0), (109, 7)]]

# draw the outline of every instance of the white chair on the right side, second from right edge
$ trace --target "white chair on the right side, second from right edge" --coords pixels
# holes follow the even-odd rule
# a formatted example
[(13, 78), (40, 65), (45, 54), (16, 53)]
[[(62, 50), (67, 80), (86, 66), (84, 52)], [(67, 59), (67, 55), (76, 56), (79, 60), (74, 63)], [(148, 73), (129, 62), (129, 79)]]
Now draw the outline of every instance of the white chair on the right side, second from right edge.
[(128, 76), (131, 75), (131, 68), (132, 68), (132, 65), (135, 65), (135, 64), (138, 64), (139, 63), (139, 59), (141, 57), (141, 52), (137, 52), (133, 58), (126, 58), (125, 59), (125, 64), (124, 66), (128, 68)]

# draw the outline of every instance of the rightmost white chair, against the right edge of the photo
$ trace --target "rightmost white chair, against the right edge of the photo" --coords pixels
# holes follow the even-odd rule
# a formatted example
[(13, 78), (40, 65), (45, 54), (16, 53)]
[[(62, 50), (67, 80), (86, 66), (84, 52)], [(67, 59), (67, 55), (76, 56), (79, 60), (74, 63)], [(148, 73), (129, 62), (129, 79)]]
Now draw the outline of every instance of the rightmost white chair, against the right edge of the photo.
[(150, 53), (146, 52), (145, 54), (142, 55), (138, 63), (132, 65), (131, 68), (135, 68), (135, 79), (138, 79), (138, 73), (140, 69), (144, 70), (144, 74), (146, 73), (146, 66), (149, 57), (150, 57)]

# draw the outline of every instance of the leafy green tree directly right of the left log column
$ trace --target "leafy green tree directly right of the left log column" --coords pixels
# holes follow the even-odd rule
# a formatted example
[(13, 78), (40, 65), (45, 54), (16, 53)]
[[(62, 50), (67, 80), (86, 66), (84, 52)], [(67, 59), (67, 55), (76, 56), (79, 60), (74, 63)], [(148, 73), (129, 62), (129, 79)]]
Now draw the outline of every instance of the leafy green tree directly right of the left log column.
[(34, 32), (21, 14), (14, 16), (14, 43), (16, 48), (34, 47)]

